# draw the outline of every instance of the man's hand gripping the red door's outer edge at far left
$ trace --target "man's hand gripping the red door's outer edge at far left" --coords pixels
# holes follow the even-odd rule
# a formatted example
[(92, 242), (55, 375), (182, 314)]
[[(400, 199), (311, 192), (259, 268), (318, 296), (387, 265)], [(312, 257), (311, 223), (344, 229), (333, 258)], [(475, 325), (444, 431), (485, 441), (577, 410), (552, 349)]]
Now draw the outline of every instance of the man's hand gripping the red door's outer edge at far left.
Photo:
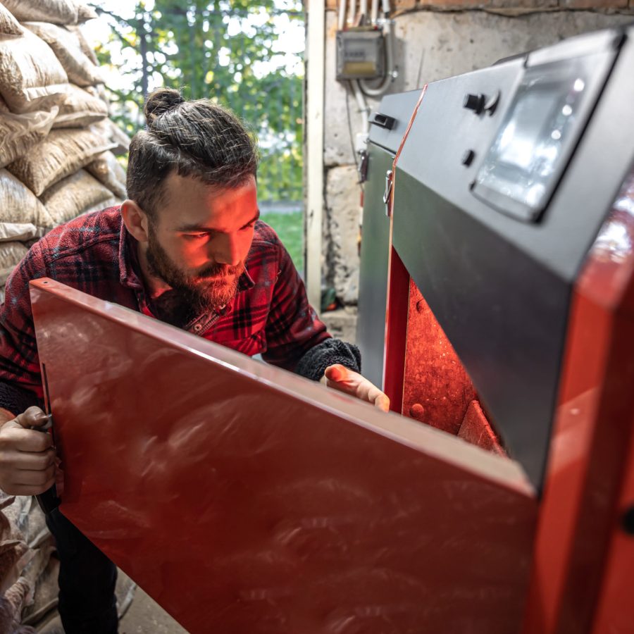
[(30, 407), (0, 427), (0, 489), (8, 495), (39, 495), (54, 485), (53, 439), (30, 429), (46, 421), (39, 407)]

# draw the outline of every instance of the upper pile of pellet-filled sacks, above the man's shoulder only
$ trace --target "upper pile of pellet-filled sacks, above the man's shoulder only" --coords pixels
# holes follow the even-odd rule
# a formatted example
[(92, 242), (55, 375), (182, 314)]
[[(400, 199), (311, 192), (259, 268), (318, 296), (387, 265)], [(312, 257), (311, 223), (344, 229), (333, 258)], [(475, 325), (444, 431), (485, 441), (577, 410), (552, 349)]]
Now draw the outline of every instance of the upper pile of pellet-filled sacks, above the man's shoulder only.
[(125, 198), (97, 58), (76, 0), (0, 0), (0, 302), (33, 240)]

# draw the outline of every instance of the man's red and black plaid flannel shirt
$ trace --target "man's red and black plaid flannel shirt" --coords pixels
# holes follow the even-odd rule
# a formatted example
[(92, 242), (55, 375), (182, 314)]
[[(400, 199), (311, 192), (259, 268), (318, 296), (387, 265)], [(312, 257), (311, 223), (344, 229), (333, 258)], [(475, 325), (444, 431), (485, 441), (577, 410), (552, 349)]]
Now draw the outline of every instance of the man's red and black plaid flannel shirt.
[[(261, 221), (245, 265), (231, 304), (198, 316), (186, 330), (249, 356), (261, 353), (265, 361), (292, 371), (306, 351), (330, 335), (310, 306), (285, 247)], [(139, 274), (136, 241), (118, 207), (52, 230), (33, 245), (6, 283), (0, 311), (0, 406), (6, 409), (12, 409), (6, 405), (12, 400), (6, 398), (11, 385), (31, 392), (31, 404), (42, 399), (29, 280), (44, 277), (153, 316)]]

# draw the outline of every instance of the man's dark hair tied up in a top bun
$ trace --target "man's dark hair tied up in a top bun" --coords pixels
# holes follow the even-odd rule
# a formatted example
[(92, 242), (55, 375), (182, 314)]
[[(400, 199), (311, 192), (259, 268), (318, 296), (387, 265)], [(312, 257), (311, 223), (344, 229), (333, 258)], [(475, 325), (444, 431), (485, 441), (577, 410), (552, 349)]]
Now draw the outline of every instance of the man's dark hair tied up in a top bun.
[(148, 95), (147, 127), (130, 142), (128, 197), (150, 218), (163, 196), (163, 181), (175, 171), (225, 188), (256, 175), (259, 154), (247, 126), (209, 99), (185, 101), (178, 90)]

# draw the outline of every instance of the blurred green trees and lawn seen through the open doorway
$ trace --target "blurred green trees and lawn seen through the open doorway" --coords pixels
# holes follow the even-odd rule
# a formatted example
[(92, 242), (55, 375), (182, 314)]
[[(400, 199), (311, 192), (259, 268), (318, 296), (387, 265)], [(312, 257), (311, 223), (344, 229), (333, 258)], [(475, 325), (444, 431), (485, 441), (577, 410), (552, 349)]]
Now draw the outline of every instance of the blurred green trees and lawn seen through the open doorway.
[(302, 94), (304, 13), (299, 0), (99, 0), (84, 32), (97, 51), (111, 118), (130, 136), (145, 125), (144, 97), (161, 86), (214, 99), (259, 139), (259, 203), (304, 270)]

